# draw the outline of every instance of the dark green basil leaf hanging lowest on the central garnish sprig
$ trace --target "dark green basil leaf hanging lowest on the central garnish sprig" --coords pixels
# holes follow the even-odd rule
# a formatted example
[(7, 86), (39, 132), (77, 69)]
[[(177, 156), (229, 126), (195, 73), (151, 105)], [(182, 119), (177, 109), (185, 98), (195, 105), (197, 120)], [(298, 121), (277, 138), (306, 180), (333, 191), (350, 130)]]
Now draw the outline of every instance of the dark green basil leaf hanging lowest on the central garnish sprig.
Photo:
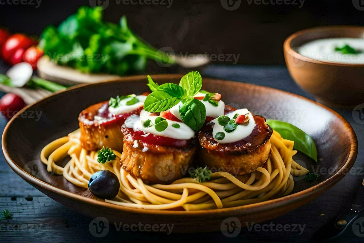
[(187, 126), (198, 131), (205, 123), (206, 108), (201, 101), (191, 97), (179, 106), (179, 114)]

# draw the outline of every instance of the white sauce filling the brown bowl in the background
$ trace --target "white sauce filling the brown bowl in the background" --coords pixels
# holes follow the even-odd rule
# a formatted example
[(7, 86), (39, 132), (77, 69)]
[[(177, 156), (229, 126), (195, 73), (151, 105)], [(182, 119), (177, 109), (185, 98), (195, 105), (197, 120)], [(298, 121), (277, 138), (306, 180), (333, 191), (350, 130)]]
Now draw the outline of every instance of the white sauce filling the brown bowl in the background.
[[(349, 45), (361, 53), (343, 54), (341, 51), (335, 50), (336, 47), (342, 48), (345, 45)], [(364, 39), (362, 38), (318, 39), (303, 44), (296, 51), (302, 56), (323, 62), (364, 64)]]

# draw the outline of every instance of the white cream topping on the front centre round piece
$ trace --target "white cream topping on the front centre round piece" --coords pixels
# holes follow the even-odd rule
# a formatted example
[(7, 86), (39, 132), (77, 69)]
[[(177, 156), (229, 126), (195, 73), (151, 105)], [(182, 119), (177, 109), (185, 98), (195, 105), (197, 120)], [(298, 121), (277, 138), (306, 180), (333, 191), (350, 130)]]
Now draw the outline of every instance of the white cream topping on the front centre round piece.
[[(143, 126), (143, 123), (145, 121), (147, 121), (149, 119), (151, 122), (153, 122), (153, 124), (155, 124), (155, 119), (157, 117), (159, 117), (157, 115), (151, 115), (151, 114), (152, 113), (150, 113), (148, 111), (142, 110), (140, 113), (139, 119), (134, 122), (134, 125), (133, 125), (134, 131), (141, 130), (145, 133), (151, 133), (154, 135), (169, 137), (169, 138), (174, 138), (174, 139), (179, 139), (179, 140), (188, 140), (195, 136), (195, 131), (193, 129), (191, 129), (189, 126), (187, 126), (183, 122), (175, 122), (175, 121), (171, 121), (171, 120), (166, 120), (168, 123), (168, 126), (162, 132), (158, 132), (157, 130), (155, 130), (154, 126), (145, 128)], [(126, 124), (129, 124), (128, 119), (127, 119), (127, 121), (125, 121)], [(133, 116), (132, 119), (135, 119), (135, 116)], [(172, 126), (173, 124), (178, 124), (179, 128), (174, 128)]]

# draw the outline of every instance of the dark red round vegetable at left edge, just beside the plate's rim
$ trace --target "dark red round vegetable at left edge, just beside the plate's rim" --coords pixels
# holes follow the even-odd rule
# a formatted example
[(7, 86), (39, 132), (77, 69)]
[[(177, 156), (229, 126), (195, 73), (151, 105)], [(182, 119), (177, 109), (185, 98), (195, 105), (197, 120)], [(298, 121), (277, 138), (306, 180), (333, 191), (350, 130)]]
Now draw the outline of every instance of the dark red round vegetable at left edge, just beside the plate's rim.
[(16, 94), (8, 93), (0, 99), (0, 111), (8, 119), (12, 118), (24, 106), (26, 106), (25, 102)]

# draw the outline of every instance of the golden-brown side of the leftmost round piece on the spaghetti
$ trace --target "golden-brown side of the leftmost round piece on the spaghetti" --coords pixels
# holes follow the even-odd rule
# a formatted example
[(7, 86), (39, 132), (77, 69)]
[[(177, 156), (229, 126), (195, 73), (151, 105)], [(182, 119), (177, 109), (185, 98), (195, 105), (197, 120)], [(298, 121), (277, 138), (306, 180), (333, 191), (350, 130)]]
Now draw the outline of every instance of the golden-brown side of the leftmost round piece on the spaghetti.
[(95, 151), (104, 146), (122, 152), (124, 135), (120, 128), (123, 122), (115, 122), (107, 126), (98, 125), (94, 122), (95, 115), (105, 103), (107, 101), (89, 106), (80, 113), (78, 119), (81, 130), (81, 147)]

